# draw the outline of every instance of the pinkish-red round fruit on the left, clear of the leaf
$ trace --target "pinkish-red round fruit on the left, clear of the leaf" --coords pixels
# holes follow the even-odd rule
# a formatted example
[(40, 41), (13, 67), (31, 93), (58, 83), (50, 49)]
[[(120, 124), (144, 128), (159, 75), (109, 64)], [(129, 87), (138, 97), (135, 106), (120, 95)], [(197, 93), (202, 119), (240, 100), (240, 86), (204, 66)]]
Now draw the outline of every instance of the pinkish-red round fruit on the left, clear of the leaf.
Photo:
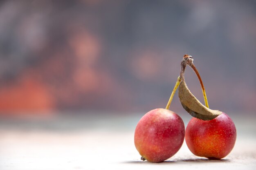
[(171, 110), (150, 110), (137, 124), (135, 147), (149, 162), (162, 162), (172, 157), (182, 146), (185, 127), (179, 115)]

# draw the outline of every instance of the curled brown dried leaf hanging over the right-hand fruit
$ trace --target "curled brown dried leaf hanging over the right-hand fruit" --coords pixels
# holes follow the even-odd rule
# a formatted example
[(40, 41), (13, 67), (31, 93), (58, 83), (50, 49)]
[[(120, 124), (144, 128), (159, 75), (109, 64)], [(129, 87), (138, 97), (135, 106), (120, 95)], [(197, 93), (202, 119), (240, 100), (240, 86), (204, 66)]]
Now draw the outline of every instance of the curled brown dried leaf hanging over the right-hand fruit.
[(211, 120), (222, 114), (219, 110), (211, 110), (204, 106), (195, 96), (189, 91), (185, 79), (179, 86), (179, 98), (183, 108), (193, 117), (202, 120)]

